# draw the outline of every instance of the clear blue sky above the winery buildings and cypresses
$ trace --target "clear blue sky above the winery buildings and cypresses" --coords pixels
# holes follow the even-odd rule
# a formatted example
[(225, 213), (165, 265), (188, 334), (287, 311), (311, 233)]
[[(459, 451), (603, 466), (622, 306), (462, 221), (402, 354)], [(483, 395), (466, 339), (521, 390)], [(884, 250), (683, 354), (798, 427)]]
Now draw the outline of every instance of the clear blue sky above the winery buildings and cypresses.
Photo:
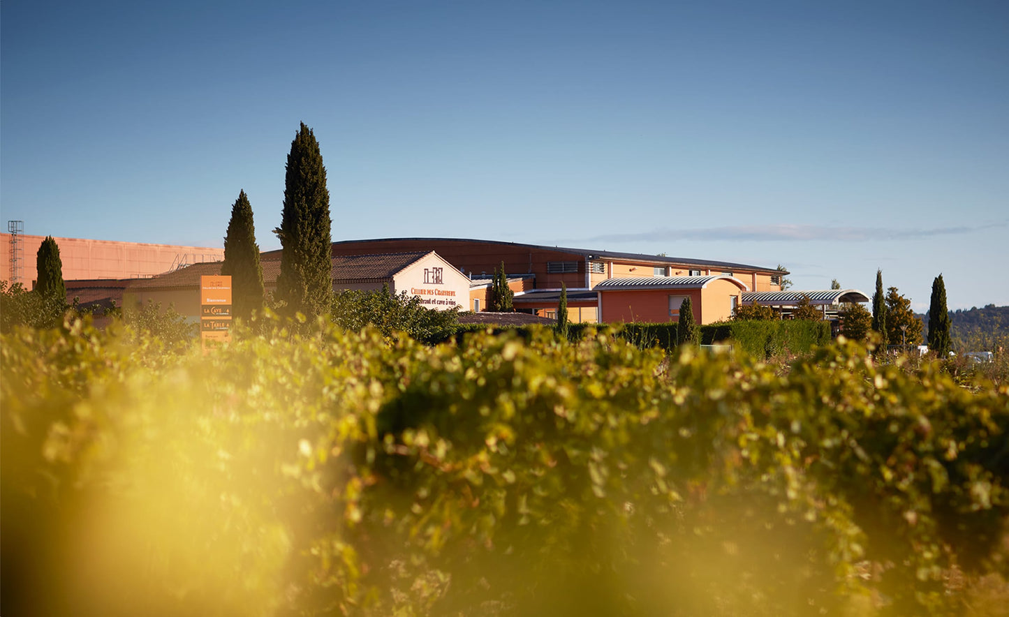
[[(333, 239), (785, 266), (1009, 304), (1009, 3), (0, 3), (0, 216), (279, 248), (305, 122)], [(6, 224), (3, 227), (6, 230)]]

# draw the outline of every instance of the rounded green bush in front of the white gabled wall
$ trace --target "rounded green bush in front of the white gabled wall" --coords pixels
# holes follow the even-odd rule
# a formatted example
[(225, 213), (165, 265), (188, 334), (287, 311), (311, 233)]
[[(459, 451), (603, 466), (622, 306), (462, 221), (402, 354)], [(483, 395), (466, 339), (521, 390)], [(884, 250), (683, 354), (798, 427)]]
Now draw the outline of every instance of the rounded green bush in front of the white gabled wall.
[(458, 328), (458, 311), (434, 311), (421, 303), (421, 298), (381, 291), (340, 291), (333, 295), (333, 322), (341, 328), (357, 332), (372, 326), (382, 336), (395, 337), (406, 333), (411, 338), (434, 344), (447, 340)]

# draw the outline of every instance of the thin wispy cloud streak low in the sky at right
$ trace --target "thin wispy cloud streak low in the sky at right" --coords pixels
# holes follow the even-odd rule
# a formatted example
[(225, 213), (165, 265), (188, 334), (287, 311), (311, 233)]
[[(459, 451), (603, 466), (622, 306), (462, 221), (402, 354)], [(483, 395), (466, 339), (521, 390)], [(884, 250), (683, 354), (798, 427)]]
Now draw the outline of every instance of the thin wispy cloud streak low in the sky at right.
[(1007, 222), (978, 227), (936, 227), (904, 229), (887, 227), (831, 227), (823, 225), (741, 225), (701, 229), (658, 229), (636, 234), (605, 234), (589, 238), (592, 242), (668, 242), (670, 240), (746, 240), (751, 242), (867, 242), (872, 240), (916, 240), (933, 236), (969, 234)]

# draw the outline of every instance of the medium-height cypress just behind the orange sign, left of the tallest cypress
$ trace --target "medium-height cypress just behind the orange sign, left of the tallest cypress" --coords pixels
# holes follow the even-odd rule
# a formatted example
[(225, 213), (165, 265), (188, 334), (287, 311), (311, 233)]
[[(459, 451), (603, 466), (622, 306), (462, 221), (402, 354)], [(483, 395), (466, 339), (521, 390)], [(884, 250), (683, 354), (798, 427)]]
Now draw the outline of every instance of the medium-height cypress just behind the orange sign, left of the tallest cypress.
[(238, 199), (231, 207), (221, 274), (231, 276), (231, 304), (235, 317), (248, 319), (254, 311), (262, 308), (264, 288), (259, 246), (255, 243), (252, 206), (244, 191), (238, 192)]

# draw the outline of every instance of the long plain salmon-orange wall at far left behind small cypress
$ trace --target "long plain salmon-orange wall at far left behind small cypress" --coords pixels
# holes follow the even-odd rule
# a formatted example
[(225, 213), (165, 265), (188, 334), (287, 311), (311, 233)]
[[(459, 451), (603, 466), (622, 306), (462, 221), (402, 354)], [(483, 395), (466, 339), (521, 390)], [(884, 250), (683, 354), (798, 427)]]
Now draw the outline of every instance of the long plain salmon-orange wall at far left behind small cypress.
[[(7, 280), (10, 271), (10, 234), (0, 234), (0, 279)], [(35, 256), (44, 236), (18, 234), (21, 245), (20, 282), (31, 288), (37, 278)], [(60, 247), (65, 280), (79, 278), (143, 278), (172, 269), (179, 260), (187, 263), (220, 261), (223, 248), (182, 246), (171, 244), (140, 244), (109, 240), (54, 238)]]

